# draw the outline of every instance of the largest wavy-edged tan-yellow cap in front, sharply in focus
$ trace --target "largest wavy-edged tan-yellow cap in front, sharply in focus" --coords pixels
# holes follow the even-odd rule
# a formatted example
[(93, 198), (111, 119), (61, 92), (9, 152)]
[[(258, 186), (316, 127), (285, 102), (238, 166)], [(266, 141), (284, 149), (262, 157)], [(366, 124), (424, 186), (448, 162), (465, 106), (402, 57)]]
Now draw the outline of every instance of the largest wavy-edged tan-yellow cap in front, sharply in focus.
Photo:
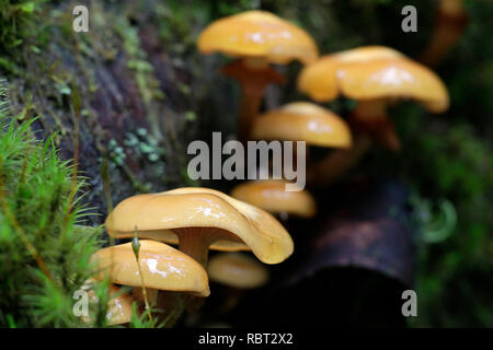
[(129, 197), (116, 206), (105, 225), (115, 237), (131, 237), (137, 228), (139, 236), (169, 243), (177, 242), (180, 229), (214, 229), (208, 231), (219, 238), (211, 249), (251, 249), (265, 264), (278, 264), (294, 249), (289, 233), (273, 215), (203, 187)]

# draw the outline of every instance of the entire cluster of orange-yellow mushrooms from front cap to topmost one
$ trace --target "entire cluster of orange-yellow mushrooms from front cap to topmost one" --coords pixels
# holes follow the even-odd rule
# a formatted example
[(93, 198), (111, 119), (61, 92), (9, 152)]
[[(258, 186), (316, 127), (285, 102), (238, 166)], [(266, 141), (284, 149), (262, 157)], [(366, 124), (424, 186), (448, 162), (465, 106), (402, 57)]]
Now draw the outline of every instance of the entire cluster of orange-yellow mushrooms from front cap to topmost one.
[[(203, 54), (234, 58), (222, 72), (242, 89), (240, 141), (306, 141), (333, 149), (319, 161), (308, 156), (310, 186), (341, 178), (372, 142), (400, 148), (387, 108), (398, 100), (414, 100), (432, 113), (448, 108), (447, 89), (429, 69), (382, 46), (367, 46), (319, 57), (313, 39), (300, 27), (264, 11), (248, 11), (216, 21), (200, 34)], [(273, 65), (305, 65), (298, 90), (318, 103), (339, 96), (357, 102), (347, 118), (311, 102), (291, 102), (260, 114), (264, 91), (286, 78)], [(254, 180), (223, 192), (198, 187), (137, 195), (123, 200), (107, 217), (105, 229), (116, 238), (138, 237), (94, 255), (101, 276), (133, 287), (111, 302), (108, 322), (130, 320), (131, 303), (158, 307), (164, 314), (198, 307), (209, 295), (209, 279), (237, 289), (257, 288), (268, 280), (259, 262), (278, 264), (294, 252), (285, 226), (287, 214), (312, 218), (317, 203), (307, 190), (286, 191), (286, 180)], [(177, 249), (170, 245), (177, 245)], [(209, 249), (216, 254), (208, 261)], [(239, 250), (250, 250), (253, 256)], [(236, 253), (234, 253), (236, 252)], [(116, 289), (116, 287), (115, 287)], [(182, 307), (182, 308), (183, 308)], [(180, 311), (177, 312), (180, 314)]]

